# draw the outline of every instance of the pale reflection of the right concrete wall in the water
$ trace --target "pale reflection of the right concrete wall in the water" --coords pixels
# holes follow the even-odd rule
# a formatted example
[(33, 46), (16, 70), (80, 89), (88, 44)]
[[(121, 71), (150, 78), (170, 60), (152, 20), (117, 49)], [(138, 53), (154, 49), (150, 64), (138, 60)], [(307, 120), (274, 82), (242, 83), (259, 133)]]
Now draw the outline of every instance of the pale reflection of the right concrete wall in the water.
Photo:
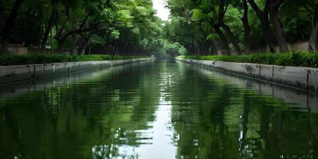
[(284, 87), (282, 85), (264, 82), (257, 79), (233, 76), (226, 72), (218, 72), (203, 68), (201, 73), (226, 82), (228, 85), (241, 87), (242, 90), (251, 90), (264, 97), (279, 99), (297, 111), (318, 113), (318, 94)]

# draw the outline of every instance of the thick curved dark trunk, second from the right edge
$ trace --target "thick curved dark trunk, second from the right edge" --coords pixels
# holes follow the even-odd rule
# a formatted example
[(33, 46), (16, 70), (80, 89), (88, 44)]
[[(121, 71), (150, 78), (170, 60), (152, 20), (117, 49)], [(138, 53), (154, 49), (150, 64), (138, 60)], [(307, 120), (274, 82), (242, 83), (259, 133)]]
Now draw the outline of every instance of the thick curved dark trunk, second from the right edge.
[(278, 17), (278, 8), (284, 2), (284, 0), (271, 0), (271, 6), (269, 10), (269, 16), (277, 37), (279, 46), (279, 52), (288, 52), (288, 46), (285, 37), (285, 27)]

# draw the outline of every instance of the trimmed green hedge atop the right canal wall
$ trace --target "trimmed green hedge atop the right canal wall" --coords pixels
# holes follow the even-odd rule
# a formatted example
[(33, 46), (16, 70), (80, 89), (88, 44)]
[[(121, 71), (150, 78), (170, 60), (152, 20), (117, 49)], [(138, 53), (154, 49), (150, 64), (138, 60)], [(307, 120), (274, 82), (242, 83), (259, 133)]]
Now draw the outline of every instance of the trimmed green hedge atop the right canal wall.
[(187, 59), (227, 61), (227, 62), (244, 62), (259, 63), (266, 65), (278, 66), (297, 66), (318, 68), (318, 52), (289, 52), (289, 53), (254, 53), (250, 55), (234, 55), (234, 56), (177, 56)]

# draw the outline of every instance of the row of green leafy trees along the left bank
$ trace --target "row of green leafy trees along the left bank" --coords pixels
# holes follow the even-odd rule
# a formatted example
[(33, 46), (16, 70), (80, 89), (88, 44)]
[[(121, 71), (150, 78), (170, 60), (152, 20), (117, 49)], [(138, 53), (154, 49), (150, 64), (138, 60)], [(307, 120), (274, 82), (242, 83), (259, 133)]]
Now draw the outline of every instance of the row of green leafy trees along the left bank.
[(155, 13), (149, 0), (0, 0), (0, 53), (9, 42), (45, 53), (52, 33), (59, 53), (100, 45), (111, 55), (160, 54), (163, 22)]

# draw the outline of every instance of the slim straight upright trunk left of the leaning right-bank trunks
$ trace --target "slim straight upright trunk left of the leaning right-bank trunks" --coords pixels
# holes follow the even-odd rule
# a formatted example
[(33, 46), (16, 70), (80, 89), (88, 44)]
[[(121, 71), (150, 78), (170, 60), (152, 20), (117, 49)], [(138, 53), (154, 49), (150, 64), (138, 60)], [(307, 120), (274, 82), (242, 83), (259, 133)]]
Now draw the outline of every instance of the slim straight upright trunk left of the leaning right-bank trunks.
[(250, 54), (250, 27), (248, 22), (248, 6), (247, 6), (247, 0), (243, 0), (243, 6), (244, 6), (244, 15), (241, 18), (243, 25), (244, 25), (244, 43), (245, 43), (245, 54)]

